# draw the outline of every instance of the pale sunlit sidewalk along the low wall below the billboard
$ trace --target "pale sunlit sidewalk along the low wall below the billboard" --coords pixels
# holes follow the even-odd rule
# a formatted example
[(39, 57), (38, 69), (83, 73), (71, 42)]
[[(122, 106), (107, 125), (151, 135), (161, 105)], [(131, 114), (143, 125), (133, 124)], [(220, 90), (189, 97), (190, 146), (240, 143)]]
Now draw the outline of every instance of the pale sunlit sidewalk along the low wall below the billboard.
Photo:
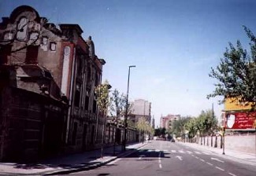
[(252, 166), (256, 166), (256, 154), (238, 152), (238, 151), (235, 151), (235, 150), (230, 150), (228, 148), (224, 149), (224, 154), (223, 154), (223, 148), (213, 148), (213, 147), (210, 147), (210, 146), (198, 145), (196, 143), (189, 143), (189, 142), (179, 142), (179, 144), (186, 145), (186, 146), (189, 146), (191, 148), (211, 152), (214, 155), (217, 155), (217, 156), (220, 156), (220, 157), (226, 158), (226, 159), (236, 160), (239, 163), (247, 163), (247, 164), (250, 164)]

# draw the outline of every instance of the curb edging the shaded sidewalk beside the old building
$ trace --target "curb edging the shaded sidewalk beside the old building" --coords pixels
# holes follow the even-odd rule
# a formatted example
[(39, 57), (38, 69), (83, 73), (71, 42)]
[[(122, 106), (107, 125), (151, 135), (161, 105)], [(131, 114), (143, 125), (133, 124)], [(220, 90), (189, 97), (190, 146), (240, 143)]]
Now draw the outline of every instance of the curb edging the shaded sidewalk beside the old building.
[[(127, 152), (121, 152), (119, 155), (114, 156), (112, 159), (108, 159), (106, 161), (103, 161), (102, 163), (95, 163), (89, 166), (83, 166), (83, 167), (77, 167), (77, 168), (73, 168), (73, 169), (61, 169), (61, 170), (54, 170), (54, 171), (46, 171), (46, 172), (39, 172), (39, 173), (35, 173), (35, 174), (40, 174), (40, 175), (54, 175), (54, 174), (71, 174), (74, 172), (80, 172), (80, 171), (85, 171), (85, 170), (91, 170), (91, 169), (95, 169), (97, 167), (101, 167), (103, 165), (106, 165), (107, 163), (112, 162), (113, 160), (117, 159), (117, 158), (121, 158), (124, 156), (128, 156), (131, 155), (133, 152), (136, 152), (137, 149), (139, 148), (143, 148), (145, 145), (148, 145), (148, 143), (144, 143), (143, 145), (139, 146), (138, 148), (132, 148), (131, 150), (127, 151)], [(33, 174), (33, 175), (35, 175)]]

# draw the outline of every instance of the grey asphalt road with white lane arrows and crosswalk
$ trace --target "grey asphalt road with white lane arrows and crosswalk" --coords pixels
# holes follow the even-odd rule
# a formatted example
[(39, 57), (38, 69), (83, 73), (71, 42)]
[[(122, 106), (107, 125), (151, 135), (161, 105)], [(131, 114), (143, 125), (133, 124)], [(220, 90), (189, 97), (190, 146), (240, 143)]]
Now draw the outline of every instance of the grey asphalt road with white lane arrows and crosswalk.
[(73, 174), (83, 175), (256, 175), (256, 167), (218, 157), (170, 141), (151, 141), (124, 158), (106, 166)]

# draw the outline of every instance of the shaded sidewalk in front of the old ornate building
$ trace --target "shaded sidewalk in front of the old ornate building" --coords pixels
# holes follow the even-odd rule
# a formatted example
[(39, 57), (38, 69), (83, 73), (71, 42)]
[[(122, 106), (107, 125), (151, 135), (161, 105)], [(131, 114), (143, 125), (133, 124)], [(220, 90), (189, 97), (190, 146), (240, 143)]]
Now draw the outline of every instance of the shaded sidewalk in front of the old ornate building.
[(121, 151), (121, 145), (116, 146), (116, 155), (113, 155), (113, 147), (104, 148), (103, 157), (100, 157), (100, 149), (72, 154), (69, 156), (59, 156), (53, 159), (46, 159), (39, 163), (22, 164), (22, 163), (0, 163), (0, 174), (69, 174), (76, 171), (89, 170), (102, 166), (106, 163), (124, 157), (135, 152), (135, 149), (142, 148), (145, 143), (134, 143), (127, 145), (126, 152)]

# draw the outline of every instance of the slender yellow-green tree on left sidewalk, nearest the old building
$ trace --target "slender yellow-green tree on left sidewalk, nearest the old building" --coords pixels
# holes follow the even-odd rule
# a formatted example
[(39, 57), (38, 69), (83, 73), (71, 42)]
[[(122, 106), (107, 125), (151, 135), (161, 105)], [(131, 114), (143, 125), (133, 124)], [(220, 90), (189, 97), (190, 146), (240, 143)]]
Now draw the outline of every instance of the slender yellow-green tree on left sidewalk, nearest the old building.
[(106, 116), (107, 111), (110, 105), (110, 99), (109, 99), (109, 89), (111, 86), (109, 85), (109, 82), (106, 80), (105, 83), (98, 85), (95, 88), (95, 94), (97, 97), (97, 105), (100, 108), (100, 110), (103, 112), (103, 129), (102, 129), (102, 148), (101, 148), (101, 157), (103, 155), (103, 144), (105, 141), (105, 130), (106, 130)]

